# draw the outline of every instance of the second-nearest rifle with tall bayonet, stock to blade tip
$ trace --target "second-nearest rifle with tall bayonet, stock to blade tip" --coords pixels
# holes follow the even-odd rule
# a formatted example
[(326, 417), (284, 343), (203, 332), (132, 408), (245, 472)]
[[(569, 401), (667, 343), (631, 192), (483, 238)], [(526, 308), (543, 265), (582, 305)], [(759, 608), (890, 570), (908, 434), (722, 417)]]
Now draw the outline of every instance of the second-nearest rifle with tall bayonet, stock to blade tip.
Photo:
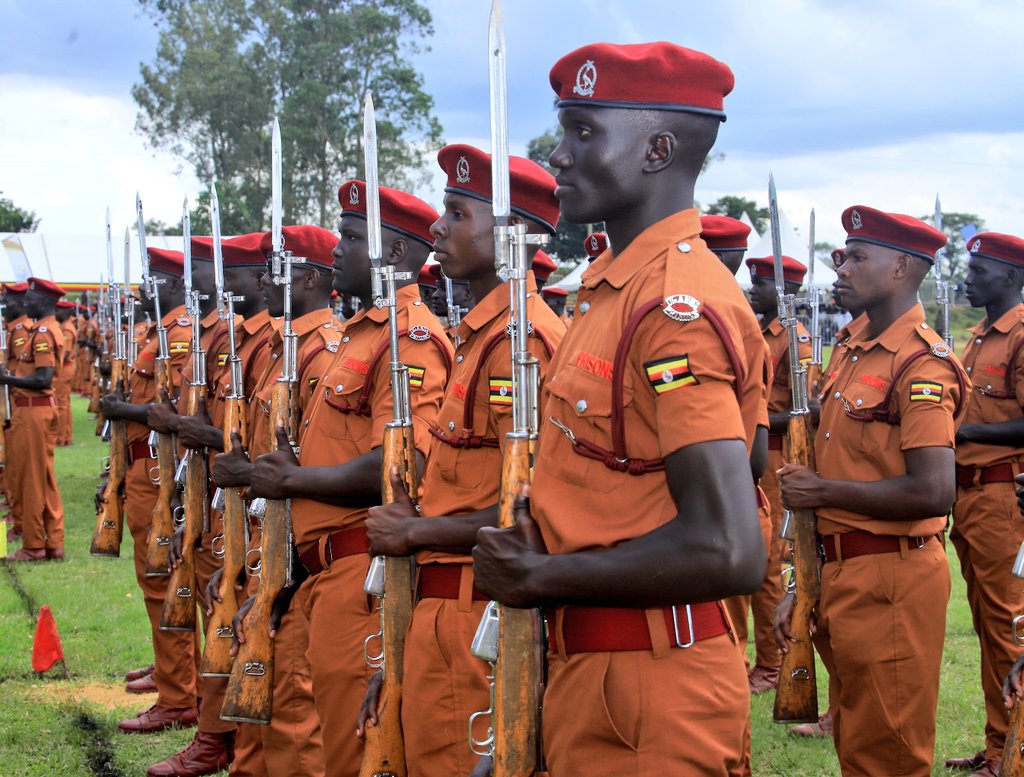
[[(377, 122), (374, 100), (368, 91), (362, 112), (362, 152), (367, 169), (367, 227), (372, 266), (374, 306), (387, 310), (391, 345), (391, 400), (393, 416), (384, 428), (381, 457), (381, 497), (384, 504), (394, 502), (391, 469), (398, 468), (406, 491), (414, 501), (419, 492), (416, 464), (416, 437), (413, 429), (412, 400), (409, 395), (409, 368), (398, 352), (398, 311), (395, 282), (413, 277), (411, 272), (395, 272), (381, 266), (380, 185), (377, 172)], [(406, 748), (401, 736), (402, 656), (406, 632), (413, 614), (412, 557), (375, 556), (367, 573), (364, 589), (380, 602), (381, 631), (367, 638), (367, 663), (383, 673), (381, 701), (376, 726), (367, 728), (366, 747), (359, 777), (404, 777)], [(379, 639), (381, 651), (371, 655), (369, 646)]]

